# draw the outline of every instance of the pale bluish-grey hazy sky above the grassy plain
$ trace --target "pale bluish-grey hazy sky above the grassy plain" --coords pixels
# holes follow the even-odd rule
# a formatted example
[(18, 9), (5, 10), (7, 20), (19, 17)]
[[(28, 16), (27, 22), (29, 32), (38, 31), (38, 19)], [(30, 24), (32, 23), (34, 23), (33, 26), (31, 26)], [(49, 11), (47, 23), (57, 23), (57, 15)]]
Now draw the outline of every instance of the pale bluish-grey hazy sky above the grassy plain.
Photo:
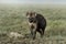
[(0, 0), (0, 3), (8, 4), (23, 4), (23, 3), (36, 3), (36, 4), (66, 4), (66, 0)]

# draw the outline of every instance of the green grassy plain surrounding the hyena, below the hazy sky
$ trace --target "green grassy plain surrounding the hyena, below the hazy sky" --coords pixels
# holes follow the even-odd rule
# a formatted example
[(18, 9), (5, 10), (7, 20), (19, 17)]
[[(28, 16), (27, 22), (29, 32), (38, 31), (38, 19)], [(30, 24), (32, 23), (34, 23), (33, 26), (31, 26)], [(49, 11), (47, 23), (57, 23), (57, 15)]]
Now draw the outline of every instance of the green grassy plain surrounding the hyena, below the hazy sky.
[[(26, 36), (30, 33), (26, 11), (35, 11), (45, 16), (47, 26), (43, 38)], [(11, 33), (21, 36), (12, 36)], [(16, 36), (18, 36), (16, 35)], [(66, 44), (66, 9), (44, 7), (0, 7), (0, 44)]]

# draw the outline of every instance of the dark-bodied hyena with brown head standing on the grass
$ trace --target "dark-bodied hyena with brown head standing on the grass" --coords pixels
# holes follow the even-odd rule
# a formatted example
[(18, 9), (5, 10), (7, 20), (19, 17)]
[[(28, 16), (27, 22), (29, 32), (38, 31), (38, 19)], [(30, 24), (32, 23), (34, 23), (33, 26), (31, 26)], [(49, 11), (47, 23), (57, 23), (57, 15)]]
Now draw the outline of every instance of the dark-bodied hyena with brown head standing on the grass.
[(44, 31), (46, 28), (46, 20), (45, 18), (36, 12), (26, 12), (26, 16), (29, 19), (29, 25), (30, 25), (30, 30), (31, 30), (31, 36), (33, 37), (33, 40), (36, 36), (36, 32), (38, 32), (41, 34), (41, 37), (43, 37), (44, 35)]

